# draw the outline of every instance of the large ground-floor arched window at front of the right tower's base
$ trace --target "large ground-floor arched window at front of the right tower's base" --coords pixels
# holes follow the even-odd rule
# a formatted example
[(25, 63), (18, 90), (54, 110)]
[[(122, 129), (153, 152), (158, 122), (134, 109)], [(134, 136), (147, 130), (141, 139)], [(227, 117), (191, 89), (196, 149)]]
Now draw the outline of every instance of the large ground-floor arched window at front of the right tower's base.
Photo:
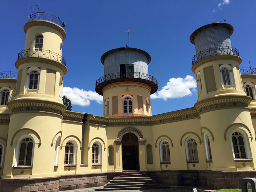
[(239, 132), (232, 133), (233, 153), (236, 159), (246, 159), (244, 137)]

